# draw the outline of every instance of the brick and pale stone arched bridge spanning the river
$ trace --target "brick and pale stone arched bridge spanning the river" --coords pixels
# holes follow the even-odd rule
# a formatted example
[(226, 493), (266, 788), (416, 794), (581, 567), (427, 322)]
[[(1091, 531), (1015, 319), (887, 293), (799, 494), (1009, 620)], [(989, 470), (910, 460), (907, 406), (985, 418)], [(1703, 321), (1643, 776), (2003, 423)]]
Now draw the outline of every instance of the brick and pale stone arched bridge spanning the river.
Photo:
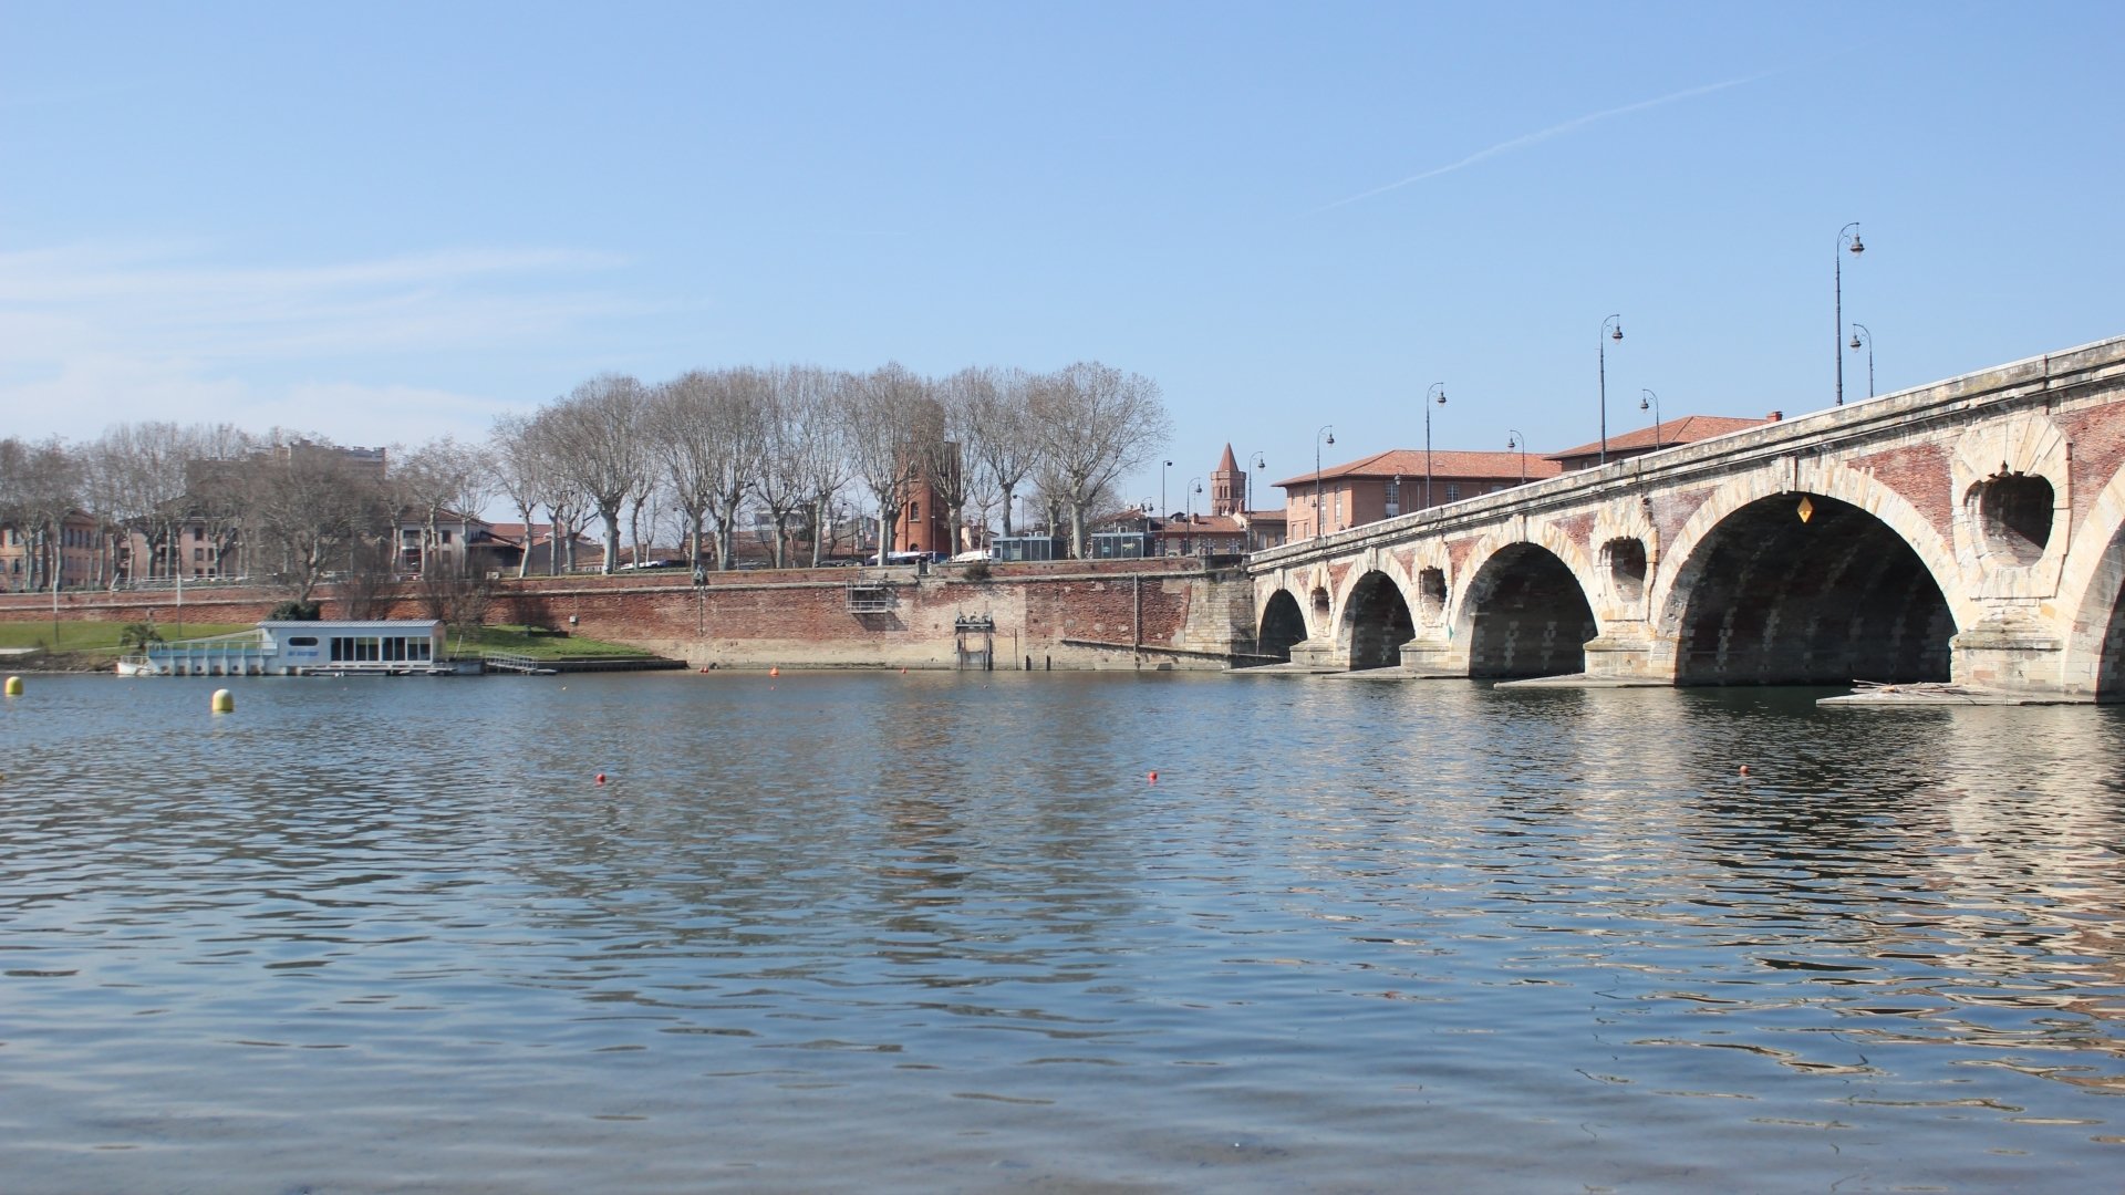
[(1256, 646), (2125, 700), (2125, 336), (1256, 553)]

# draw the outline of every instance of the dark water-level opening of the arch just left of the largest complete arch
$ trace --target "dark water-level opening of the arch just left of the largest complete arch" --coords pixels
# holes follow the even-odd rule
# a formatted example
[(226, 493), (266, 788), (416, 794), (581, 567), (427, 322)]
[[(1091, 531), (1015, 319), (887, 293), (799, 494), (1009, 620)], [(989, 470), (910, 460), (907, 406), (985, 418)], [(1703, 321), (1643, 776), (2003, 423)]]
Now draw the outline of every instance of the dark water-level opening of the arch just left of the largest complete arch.
[(1585, 672), (1594, 608), (1562, 559), (1534, 544), (1490, 557), (1468, 585), (1468, 676)]

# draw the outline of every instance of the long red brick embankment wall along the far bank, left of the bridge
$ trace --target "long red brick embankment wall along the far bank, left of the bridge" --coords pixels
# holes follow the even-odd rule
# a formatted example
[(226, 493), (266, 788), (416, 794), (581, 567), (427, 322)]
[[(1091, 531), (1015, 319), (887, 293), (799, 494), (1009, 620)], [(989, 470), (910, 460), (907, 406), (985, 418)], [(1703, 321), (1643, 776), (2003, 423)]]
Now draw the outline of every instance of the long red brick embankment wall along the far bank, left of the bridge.
[[(884, 610), (852, 612), (850, 583), (880, 585)], [(285, 593), (189, 589), (183, 619), (251, 623)], [(332, 589), (327, 619), (346, 617)], [(820, 568), (531, 576), (502, 580), (487, 621), (557, 627), (684, 659), (695, 668), (958, 668), (963, 651), (990, 651), (997, 668), (1224, 668), (1250, 651), (1254, 585), (1239, 570), (1198, 559), (1054, 561), (994, 566), (986, 580), (956, 568)], [(81, 591), (60, 595), (60, 617), (176, 623), (176, 595)], [(378, 617), (421, 619), (419, 595), (380, 600)], [(51, 617), (49, 593), (0, 595), (0, 621)], [(960, 634), (958, 619), (992, 632)]]

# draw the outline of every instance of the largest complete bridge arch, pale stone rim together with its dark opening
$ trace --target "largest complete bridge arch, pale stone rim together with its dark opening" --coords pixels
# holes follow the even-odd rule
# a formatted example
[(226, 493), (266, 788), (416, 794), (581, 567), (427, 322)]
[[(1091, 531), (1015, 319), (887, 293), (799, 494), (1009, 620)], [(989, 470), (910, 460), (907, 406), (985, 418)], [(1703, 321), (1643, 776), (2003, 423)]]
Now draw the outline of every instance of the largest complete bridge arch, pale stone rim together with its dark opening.
[(1651, 608), (1655, 670), (1677, 685), (1951, 678), (1949, 640), (1968, 621), (1955, 553), (1866, 474), (1732, 478), (1670, 559)]

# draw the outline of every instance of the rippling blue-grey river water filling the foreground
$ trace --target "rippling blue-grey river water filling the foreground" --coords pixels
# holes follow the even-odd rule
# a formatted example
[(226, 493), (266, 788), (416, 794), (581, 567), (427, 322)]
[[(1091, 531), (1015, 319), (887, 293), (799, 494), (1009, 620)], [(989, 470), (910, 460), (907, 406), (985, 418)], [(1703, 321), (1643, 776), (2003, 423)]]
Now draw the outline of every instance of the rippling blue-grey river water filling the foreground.
[(1813, 695), (32, 676), (0, 1191), (2116, 1191), (2125, 710)]

